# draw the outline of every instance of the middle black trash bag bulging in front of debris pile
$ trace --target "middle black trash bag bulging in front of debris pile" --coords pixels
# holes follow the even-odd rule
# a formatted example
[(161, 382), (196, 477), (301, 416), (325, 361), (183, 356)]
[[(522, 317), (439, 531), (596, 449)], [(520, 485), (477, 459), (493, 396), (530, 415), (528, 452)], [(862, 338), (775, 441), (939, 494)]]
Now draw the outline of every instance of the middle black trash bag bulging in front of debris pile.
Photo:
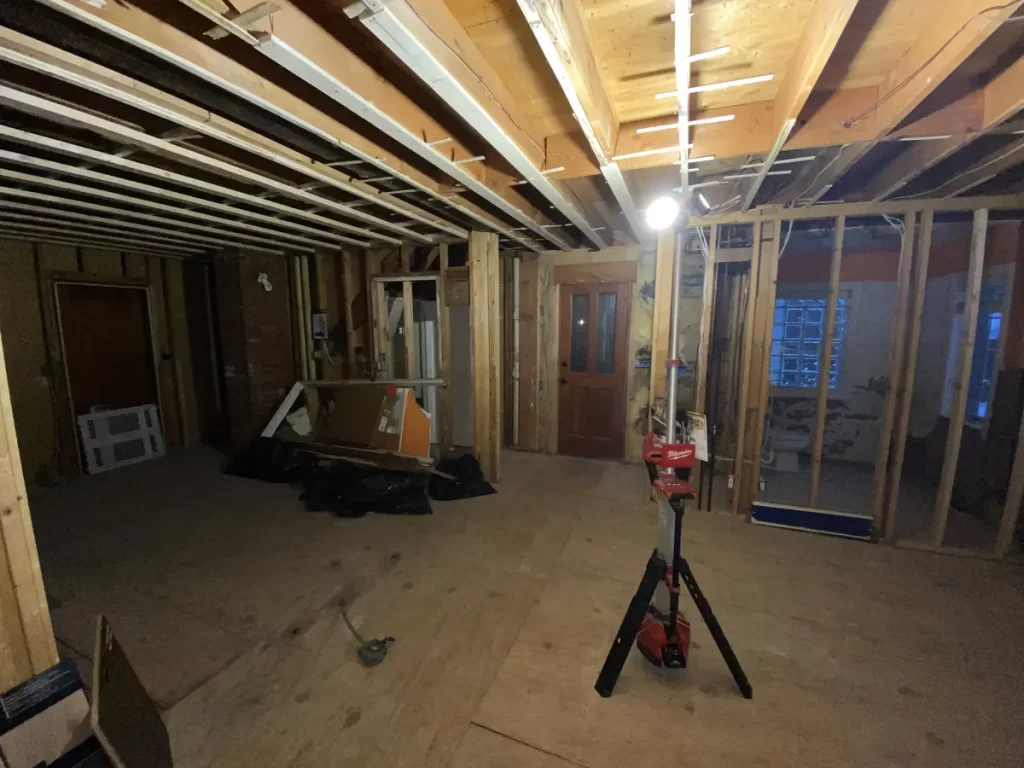
[(399, 472), (325, 462), (300, 497), (307, 510), (330, 511), (339, 517), (429, 515), (427, 479), (422, 472)]

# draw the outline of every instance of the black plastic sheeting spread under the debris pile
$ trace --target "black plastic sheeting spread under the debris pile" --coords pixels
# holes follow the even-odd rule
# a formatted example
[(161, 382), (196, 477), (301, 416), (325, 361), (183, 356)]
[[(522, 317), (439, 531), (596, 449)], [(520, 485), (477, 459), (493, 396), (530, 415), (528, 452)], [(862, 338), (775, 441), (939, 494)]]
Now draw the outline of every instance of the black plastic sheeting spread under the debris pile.
[(272, 437), (258, 437), (227, 463), (224, 472), (295, 485), (302, 488), (299, 498), (307, 510), (333, 512), (340, 517), (362, 517), (368, 512), (429, 515), (433, 510), (428, 488), (437, 501), (497, 493), (484, 481), (480, 465), (472, 456), (443, 459), (437, 469), (455, 479), (325, 459)]

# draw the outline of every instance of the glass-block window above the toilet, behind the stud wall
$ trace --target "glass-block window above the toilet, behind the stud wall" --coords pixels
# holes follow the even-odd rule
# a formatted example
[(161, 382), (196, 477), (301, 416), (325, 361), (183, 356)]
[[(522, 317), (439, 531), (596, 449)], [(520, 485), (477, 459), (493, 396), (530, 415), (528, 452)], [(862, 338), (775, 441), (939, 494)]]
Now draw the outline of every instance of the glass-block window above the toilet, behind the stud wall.
[[(825, 299), (775, 299), (772, 326), (771, 383), (777, 387), (814, 389), (818, 386), (821, 342), (825, 335)], [(836, 331), (828, 365), (828, 388), (839, 381), (849, 301), (836, 303)]]

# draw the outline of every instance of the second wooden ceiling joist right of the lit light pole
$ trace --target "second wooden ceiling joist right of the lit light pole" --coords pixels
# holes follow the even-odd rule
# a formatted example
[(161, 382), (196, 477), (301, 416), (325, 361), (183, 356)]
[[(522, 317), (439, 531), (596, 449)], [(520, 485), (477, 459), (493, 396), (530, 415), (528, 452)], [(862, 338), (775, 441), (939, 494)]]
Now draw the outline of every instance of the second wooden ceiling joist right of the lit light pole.
[(853, 128), (873, 112), (876, 135), (857, 144), (844, 141), (846, 145), (839, 160), (820, 174), (802, 197), (809, 203), (820, 200), (857, 161), (896, 130), (1022, 4), (1024, 0), (1004, 5), (993, 5), (992, 0), (962, 0), (946, 3), (941, 13), (931, 14), (880, 88), (877, 101), (844, 120), (845, 127)]

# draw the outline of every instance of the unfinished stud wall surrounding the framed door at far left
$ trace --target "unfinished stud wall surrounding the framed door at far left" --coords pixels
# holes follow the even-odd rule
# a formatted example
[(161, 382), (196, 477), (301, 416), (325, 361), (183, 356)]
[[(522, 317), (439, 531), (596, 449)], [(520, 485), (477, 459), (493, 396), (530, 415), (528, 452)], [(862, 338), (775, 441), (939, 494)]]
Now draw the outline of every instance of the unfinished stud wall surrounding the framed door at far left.
[(67, 403), (55, 317), (44, 311), (46, 306), (52, 311), (46, 295), (52, 272), (72, 279), (134, 278), (150, 286), (164, 435), (173, 446), (198, 434), (180, 266), (156, 256), (0, 240), (0, 332), (29, 483), (54, 472), (78, 471), (71, 447), (77, 428)]

